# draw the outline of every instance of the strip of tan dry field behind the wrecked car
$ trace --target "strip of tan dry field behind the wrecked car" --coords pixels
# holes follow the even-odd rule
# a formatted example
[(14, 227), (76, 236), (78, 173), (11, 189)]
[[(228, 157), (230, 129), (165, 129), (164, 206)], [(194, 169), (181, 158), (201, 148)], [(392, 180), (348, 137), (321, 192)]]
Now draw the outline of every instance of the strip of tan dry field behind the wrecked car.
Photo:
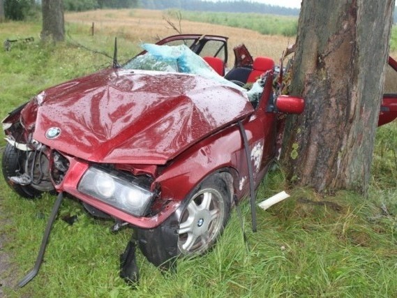
[[(164, 20), (165, 12), (160, 10), (91, 10), (82, 13), (67, 13), (66, 22), (95, 24), (96, 32), (122, 32), (123, 38), (131, 42), (142, 41), (155, 43), (159, 38), (177, 34)], [(178, 20), (171, 19), (178, 26)], [(256, 56), (268, 56), (278, 61), (281, 53), (294, 39), (285, 36), (267, 36), (248, 29), (220, 26), (200, 22), (181, 21), (182, 33), (207, 33), (229, 37), (229, 65), (232, 65), (232, 48), (244, 43), (248, 50)]]

